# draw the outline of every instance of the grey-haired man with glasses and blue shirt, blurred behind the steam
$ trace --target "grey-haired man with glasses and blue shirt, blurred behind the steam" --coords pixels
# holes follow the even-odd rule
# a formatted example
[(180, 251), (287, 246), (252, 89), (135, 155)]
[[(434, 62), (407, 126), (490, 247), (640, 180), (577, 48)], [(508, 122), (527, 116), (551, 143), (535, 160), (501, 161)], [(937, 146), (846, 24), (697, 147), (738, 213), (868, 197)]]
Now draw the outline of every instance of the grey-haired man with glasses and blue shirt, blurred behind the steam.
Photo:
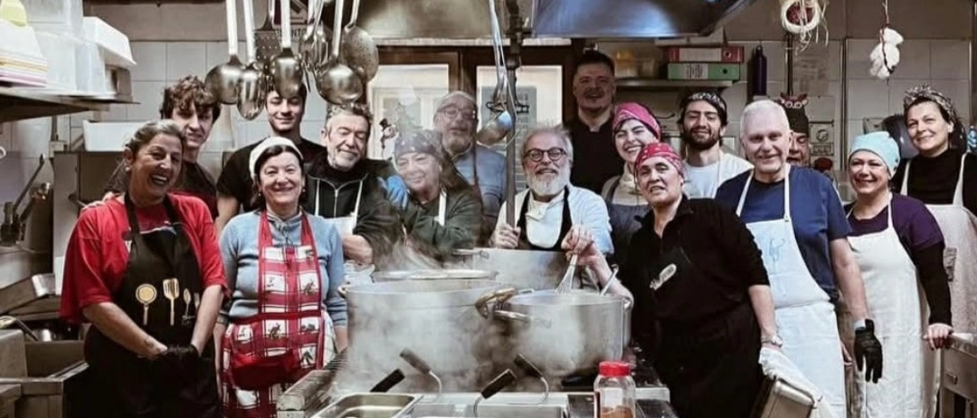
[(448, 93), (434, 115), (435, 130), (441, 132), (442, 146), (469, 185), (482, 196), (483, 236), (495, 225), (505, 200), (505, 157), (475, 142), (478, 104), (468, 93)]

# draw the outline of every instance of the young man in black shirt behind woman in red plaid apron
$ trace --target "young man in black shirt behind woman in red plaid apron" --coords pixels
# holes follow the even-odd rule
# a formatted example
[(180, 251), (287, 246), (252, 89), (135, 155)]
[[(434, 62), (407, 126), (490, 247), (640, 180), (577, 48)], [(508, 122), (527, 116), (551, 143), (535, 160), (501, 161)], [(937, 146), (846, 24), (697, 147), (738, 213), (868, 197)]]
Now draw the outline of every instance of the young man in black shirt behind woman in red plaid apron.
[[(308, 95), (309, 90), (305, 85), (299, 89), (298, 96), (288, 100), (282, 99), (272, 90), (268, 92), (268, 97), (265, 99), (265, 111), (268, 113), (268, 122), (272, 125), (272, 136), (294, 141), (302, 152), (302, 158), (312, 161), (320, 152), (325, 151), (325, 146), (302, 138), (299, 132)], [(251, 156), (251, 150), (260, 143), (258, 141), (235, 150), (221, 170), (221, 177), (217, 180), (218, 216), (214, 221), (218, 236), (234, 215), (257, 209), (251, 201), (254, 182), (251, 180), (251, 173), (248, 172), (248, 158)]]

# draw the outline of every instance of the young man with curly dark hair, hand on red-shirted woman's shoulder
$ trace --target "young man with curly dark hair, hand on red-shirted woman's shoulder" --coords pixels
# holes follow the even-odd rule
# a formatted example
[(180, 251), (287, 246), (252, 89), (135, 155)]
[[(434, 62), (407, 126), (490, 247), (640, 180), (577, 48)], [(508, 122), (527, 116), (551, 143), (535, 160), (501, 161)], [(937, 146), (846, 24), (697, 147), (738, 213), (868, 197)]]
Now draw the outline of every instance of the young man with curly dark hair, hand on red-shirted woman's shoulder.
[[(197, 164), (196, 158), (200, 148), (210, 137), (210, 130), (220, 114), (221, 104), (196, 76), (188, 75), (163, 89), (159, 117), (177, 122), (187, 137), (187, 146), (183, 152), (183, 170), (177, 180), (175, 192), (203, 200), (212, 217), (217, 217), (217, 188), (214, 187), (214, 177)], [(128, 169), (120, 162), (106, 182), (106, 198), (125, 191), (128, 184)]]

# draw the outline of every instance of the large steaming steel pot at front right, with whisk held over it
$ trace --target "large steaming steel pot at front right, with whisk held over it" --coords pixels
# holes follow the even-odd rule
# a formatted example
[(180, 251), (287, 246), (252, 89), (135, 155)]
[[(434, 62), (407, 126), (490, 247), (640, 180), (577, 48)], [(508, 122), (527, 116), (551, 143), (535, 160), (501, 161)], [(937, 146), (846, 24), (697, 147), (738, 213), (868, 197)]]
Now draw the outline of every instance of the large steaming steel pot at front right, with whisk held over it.
[(589, 372), (601, 361), (623, 356), (631, 308), (625, 298), (585, 291), (513, 294), (502, 289), (483, 300), (498, 301), (490, 316), (510, 324), (514, 349), (543, 374)]

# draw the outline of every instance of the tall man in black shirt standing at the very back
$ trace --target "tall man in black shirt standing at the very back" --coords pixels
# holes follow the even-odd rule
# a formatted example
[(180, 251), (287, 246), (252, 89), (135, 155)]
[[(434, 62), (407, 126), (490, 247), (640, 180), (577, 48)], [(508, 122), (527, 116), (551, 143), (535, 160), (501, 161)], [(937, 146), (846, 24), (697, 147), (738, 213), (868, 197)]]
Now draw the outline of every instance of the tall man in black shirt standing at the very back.
[(573, 69), (576, 118), (566, 122), (573, 142), (570, 183), (600, 193), (604, 183), (621, 173), (612, 132), (615, 95), (614, 62), (597, 51), (583, 53)]

